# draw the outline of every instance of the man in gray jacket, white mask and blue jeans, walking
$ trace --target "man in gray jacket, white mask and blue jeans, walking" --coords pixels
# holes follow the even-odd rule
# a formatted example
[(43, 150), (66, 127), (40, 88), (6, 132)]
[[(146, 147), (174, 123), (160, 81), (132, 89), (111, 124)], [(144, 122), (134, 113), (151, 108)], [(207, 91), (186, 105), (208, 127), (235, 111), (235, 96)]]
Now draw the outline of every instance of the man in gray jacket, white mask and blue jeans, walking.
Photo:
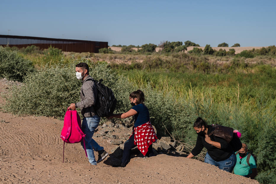
[[(108, 153), (100, 146), (93, 138), (94, 130), (98, 127), (101, 117), (97, 115), (94, 105), (97, 97), (97, 87), (92, 81), (92, 77), (89, 75), (89, 67), (86, 63), (78, 63), (76, 65), (76, 77), (82, 80), (81, 86), (81, 101), (77, 103), (71, 103), (68, 107), (71, 110), (81, 108), (81, 114), (84, 117), (81, 128), (86, 134), (84, 140), (86, 145), (86, 152), (90, 164), (97, 165), (100, 161), (105, 159)], [(82, 143), (83, 146), (83, 143)], [(99, 159), (96, 161), (94, 151), (99, 153)]]

